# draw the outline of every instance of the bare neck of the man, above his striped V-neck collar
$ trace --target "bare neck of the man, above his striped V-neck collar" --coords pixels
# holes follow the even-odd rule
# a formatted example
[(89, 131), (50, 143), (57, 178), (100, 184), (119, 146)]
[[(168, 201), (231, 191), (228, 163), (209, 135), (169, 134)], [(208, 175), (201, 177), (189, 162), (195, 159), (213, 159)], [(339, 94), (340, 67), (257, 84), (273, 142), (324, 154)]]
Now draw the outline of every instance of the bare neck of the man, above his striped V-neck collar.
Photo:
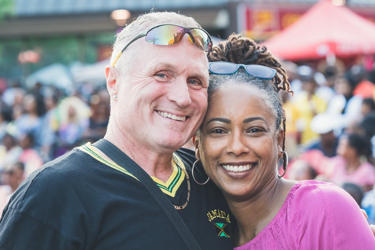
[(144, 145), (139, 144), (131, 137), (126, 137), (124, 134), (115, 136), (112, 130), (106, 133), (104, 139), (123, 151), (130, 159), (141, 166), (148, 175), (164, 182), (171, 176), (173, 171), (173, 151), (160, 152), (156, 148), (144, 147)]

